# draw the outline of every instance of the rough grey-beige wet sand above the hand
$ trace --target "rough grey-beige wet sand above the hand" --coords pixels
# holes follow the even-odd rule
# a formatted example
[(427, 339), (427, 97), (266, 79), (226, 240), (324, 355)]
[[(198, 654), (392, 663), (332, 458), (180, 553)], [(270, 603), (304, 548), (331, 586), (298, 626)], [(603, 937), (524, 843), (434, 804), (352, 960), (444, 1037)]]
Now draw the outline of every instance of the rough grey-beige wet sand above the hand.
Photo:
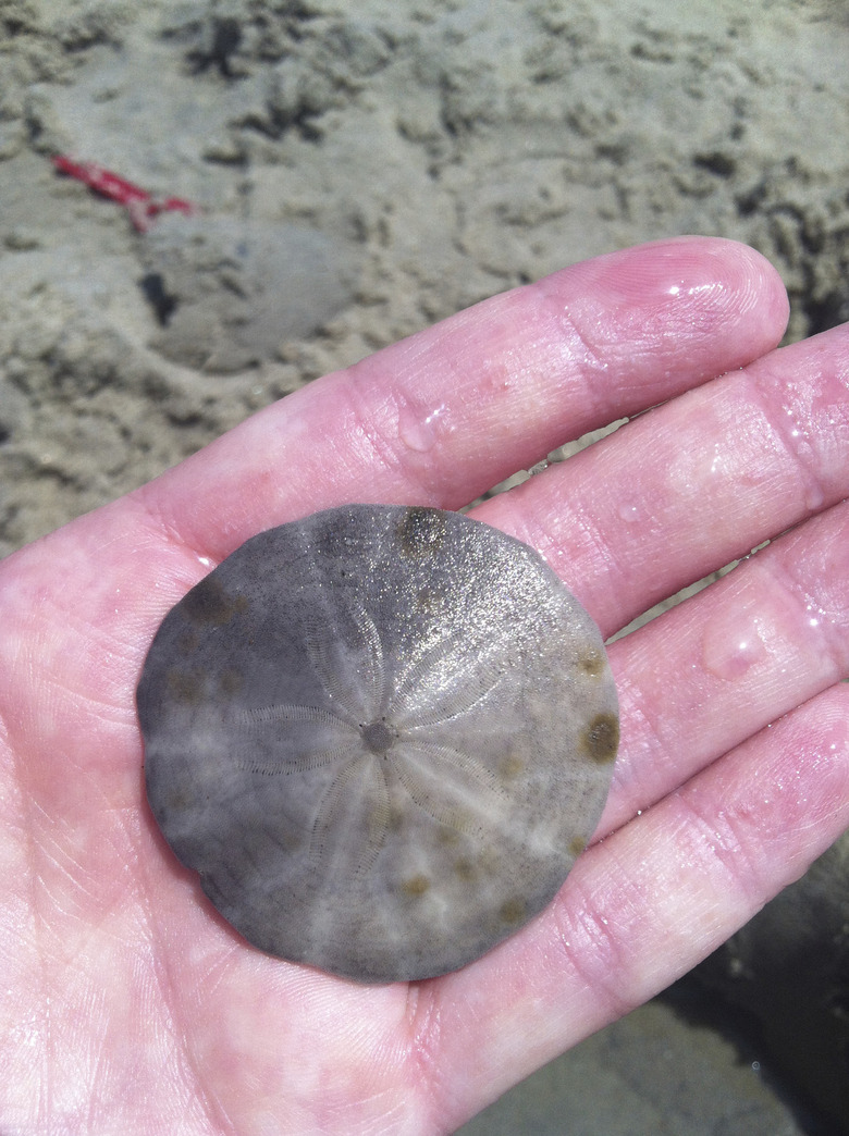
[[(842, 6), (7, 0), (0, 22), (0, 553), (324, 371), (651, 237), (756, 245), (792, 337), (849, 319)], [(60, 152), (311, 241), (276, 339), (258, 301), (244, 350), (242, 302), (242, 346), (209, 350), (232, 281), (191, 248), (165, 325), (178, 218), (135, 232)], [(317, 328), (288, 314), (305, 287)]]

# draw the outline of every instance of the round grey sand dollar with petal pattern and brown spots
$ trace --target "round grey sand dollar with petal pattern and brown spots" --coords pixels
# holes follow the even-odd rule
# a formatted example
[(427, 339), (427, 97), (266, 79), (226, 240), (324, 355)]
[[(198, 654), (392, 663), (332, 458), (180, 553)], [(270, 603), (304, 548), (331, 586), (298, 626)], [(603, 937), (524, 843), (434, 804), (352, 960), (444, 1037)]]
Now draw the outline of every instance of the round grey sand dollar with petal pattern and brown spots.
[(598, 628), (527, 545), (355, 504), (247, 541), (167, 615), (148, 797), (255, 945), (359, 982), (455, 970), (555, 895), (618, 741)]

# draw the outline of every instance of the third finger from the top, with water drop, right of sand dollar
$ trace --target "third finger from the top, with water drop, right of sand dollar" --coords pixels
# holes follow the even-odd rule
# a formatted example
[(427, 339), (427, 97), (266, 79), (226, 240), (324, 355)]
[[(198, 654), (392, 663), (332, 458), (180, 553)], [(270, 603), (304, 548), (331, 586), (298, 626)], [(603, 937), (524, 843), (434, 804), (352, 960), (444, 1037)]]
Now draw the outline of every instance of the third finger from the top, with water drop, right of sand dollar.
[(613, 644), (622, 745), (599, 833), (849, 676), (849, 502)]

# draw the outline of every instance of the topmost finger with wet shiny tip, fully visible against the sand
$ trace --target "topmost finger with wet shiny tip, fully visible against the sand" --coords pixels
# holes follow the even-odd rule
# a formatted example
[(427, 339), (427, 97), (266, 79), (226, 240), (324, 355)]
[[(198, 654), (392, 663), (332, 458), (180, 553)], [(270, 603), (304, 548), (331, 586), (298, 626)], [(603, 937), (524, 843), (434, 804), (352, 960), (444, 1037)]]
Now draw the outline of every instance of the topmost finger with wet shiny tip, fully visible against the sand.
[(267, 408), (141, 491), (220, 559), (348, 501), (457, 508), (551, 449), (740, 367), (786, 299), (754, 250), (691, 237), (494, 296)]

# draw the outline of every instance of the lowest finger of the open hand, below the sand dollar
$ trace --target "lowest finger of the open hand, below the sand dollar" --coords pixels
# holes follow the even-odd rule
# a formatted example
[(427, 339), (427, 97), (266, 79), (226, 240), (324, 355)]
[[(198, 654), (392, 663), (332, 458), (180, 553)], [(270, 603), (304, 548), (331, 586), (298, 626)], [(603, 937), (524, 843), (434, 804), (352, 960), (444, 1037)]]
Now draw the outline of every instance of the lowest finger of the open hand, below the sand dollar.
[(680, 977), (849, 825), (849, 687), (800, 707), (579, 860), (527, 930), (425, 989), (447, 1124)]

